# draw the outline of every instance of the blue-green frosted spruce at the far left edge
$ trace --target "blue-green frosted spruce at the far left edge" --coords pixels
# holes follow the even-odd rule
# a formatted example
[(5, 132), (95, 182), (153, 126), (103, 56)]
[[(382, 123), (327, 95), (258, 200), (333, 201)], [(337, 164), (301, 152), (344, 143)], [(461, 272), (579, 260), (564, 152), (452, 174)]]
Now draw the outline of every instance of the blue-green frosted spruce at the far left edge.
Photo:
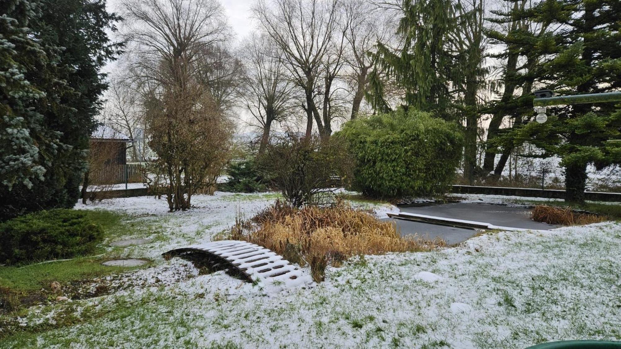
[[(29, 25), (40, 16), (39, 1), (0, 2), (0, 217), (19, 213), (13, 190), (42, 181), (60, 147), (58, 132), (43, 127), (47, 71), (45, 52)], [(49, 47), (52, 48), (52, 47)], [(57, 50), (53, 50), (54, 52)]]

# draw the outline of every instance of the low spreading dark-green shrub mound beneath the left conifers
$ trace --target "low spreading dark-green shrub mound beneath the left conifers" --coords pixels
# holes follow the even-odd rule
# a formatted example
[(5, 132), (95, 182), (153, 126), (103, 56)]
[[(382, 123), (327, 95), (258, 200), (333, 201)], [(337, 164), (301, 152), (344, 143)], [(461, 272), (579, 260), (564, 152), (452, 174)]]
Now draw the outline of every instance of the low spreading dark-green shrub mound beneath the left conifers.
[(0, 224), (0, 263), (85, 255), (93, 252), (103, 233), (87, 212), (53, 209), (22, 215)]

